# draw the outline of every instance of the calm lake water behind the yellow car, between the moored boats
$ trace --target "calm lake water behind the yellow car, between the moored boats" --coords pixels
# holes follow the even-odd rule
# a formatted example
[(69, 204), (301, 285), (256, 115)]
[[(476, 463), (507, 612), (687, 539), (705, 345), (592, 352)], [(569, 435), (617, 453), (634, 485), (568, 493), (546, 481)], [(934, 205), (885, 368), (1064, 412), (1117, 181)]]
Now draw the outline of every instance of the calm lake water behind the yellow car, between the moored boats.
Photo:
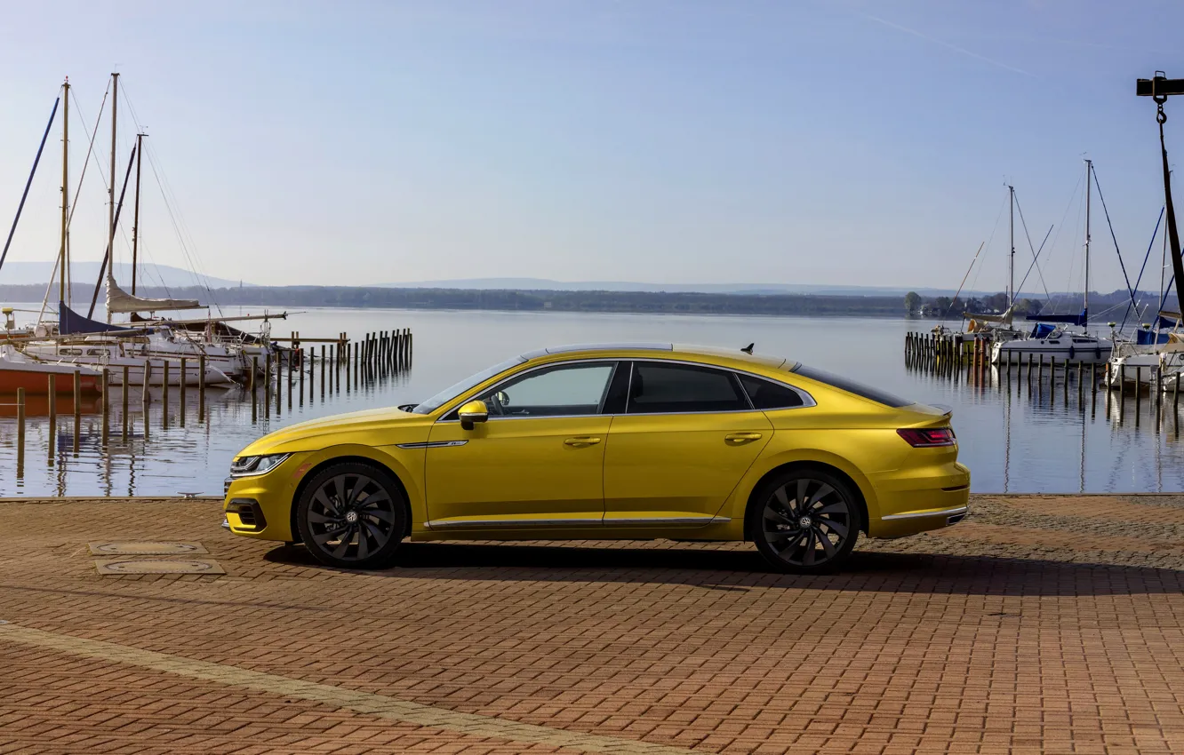
[[(230, 312), (227, 312), (230, 314)], [(165, 417), (159, 391), (144, 415), (139, 389), (130, 401), (131, 434), (121, 439), (118, 388), (111, 392), (111, 439), (102, 451), (97, 400), (83, 404), (75, 452), (70, 401), (58, 401), (56, 453), (50, 460), (49, 421), (36, 404), (26, 425), (24, 467), (17, 469), (14, 407), (0, 406), (0, 495), (218, 495), (231, 458), (255, 438), (292, 422), (361, 408), (414, 402), (483, 367), (542, 346), (596, 341), (674, 341), (757, 350), (842, 372), (918, 401), (954, 407), (961, 460), (973, 472), (978, 492), (1106, 492), (1184, 490), (1184, 444), (1170, 400), (1158, 413), (1144, 396), (1141, 412), (1127, 398), (1121, 413), (1105, 395), (1092, 401), (1088, 386), (1077, 406), (1075, 381), (1068, 405), (1058, 387), (1028, 388), (1015, 375), (999, 385), (938, 378), (909, 370), (903, 337), (928, 322), (809, 317), (715, 317), (659, 315), (579, 315), (559, 312), (458, 312), (403, 310), (308, 310), (278, 321), (276, 335), (300, 330), (304, 337), (346, 331), (411, 328), (416, 337), (410, 370), (374, 386), (356, 387), (303, 404), (284, 395), (270, 418), (259, 411), (252, 422), (250, 394), (242, 389), (207, 393), (205, 421), (199, 421), (195, 391), (187, 394), (185, 424), (178, 391)], [(0, 396), (0, 404), (13, 399)], [(44, 399), (43, 399), (44, 401)], [(166, 426), (167, 424), (167, 426)]]

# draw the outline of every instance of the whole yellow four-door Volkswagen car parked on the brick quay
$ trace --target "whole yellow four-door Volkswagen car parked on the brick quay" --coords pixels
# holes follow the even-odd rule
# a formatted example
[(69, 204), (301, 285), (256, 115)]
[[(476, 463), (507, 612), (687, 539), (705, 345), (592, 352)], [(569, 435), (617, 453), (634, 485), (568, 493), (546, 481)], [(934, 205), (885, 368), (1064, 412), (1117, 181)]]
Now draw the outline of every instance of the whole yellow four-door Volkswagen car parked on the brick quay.
[(226, 480), (237, 535), (381, 568), (404, 538), (751, 541), (829, 572), (860, 531), (966, 516), (950, 411), (784, 359), (661, 344), (541, 349), (419, 405), (285, 427)]

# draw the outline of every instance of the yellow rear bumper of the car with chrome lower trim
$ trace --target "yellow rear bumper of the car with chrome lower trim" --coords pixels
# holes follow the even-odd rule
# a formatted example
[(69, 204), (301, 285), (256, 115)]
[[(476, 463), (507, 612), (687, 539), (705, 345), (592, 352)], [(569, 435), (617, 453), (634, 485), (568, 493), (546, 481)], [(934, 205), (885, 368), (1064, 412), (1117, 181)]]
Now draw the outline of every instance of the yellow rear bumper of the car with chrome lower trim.
[(868, 522), (871, 537), (906, 537), (957, 524), (970, 512), (970, 470), (958, 463), (929, 467), (928, 475), (887, 476), (875, 480), (879, 518)]

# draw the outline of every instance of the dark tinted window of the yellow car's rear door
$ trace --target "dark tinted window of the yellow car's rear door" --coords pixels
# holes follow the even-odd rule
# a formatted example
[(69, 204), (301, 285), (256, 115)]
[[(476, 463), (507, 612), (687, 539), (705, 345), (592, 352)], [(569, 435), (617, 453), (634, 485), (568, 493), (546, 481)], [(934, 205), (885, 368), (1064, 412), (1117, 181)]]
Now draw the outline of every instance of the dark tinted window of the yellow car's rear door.
[(629, 414), (747, 411), (748, 399), (731, 372), (691, 364), (633, 362)]

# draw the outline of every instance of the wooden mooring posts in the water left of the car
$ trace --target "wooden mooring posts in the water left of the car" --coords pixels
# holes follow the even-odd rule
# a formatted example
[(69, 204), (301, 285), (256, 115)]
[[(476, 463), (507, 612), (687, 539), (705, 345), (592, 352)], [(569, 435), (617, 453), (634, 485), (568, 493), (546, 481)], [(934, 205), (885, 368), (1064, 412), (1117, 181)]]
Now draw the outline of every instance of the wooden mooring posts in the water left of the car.
[[(258, 363), (258, 357), (252, 357), (252, 369), (249, 382), (249, 391), (251, 393), (251, 420), (258, 419), (259, 413), (259, 401), (258, 392), (259, 383), (263, 385), (264, 392), (264, 414), (265, 417), (271, 415), (271, 388), (272, 382), (275, 382), (275, 394), (276, 394), (276, 414), (279, 414), (282, 401), (283, 401), (283, 383), (288, 382), (289, 387), (292, 383), (300, 385), (300, 404), (304, 404), (304, 376), (308, 374), (309, 392), (308, 400), (311, 402), (315, 398), (316, 391), (316, 373), (320, 372), (321, 380), (321, 399), (326, 396), (326, 388), (328, 383), (328, 393), (340, 393), (342, 387), (342, 372), (345, 372), (345, 388), (349, 393), (353, 387), (361, 388), (365, 382), (374, 381), (385, 378), (395, 372), (406, 369), (411, 363), (412, 353), (412, 335), (410, 329), (401, 330), (382, 330), (378, 333), (367, 333), (365, 338), (358, 342), (350, 341), (345, 333), (340, 334), (339, 338), (304, 338), (307, 343), (309, 341), (321, 342), (320, 357), (316, 354), (315, 347), (309, 347), (308, 351), (300, 348), (301, 338), (298, 333), (292, 333), (291, 338), (283, 338), (289, 341), (296, 348), (284, 348), (278, 351), (275, 366), (272, 364), (271, 353), (264, 356), (262, 378)], [(206, 419), (206, 356), (204, 354), (199, 355), (197, 359), (180, 357), (179, 363), (179, 387), (180, 387), (180, 426), (185, 426), (186, 420), (186, 404), (187, 394), (185, 388), (188, 386), (188, 376), (192, 374), (192, 363), (197, 362), (198, 368), (198, 422), (204, 422)], [(317, 364), (320, 369), (317, 370)], [(127, 443), (128, 434), (130, 431), (130, 413), (128, 412), (128, 385), (129, 385), (129, 366), (122, 366), (122, 427), (121, 427), (121, 440)], [(148, 392), (150, 378), (152, 378), (152, 362), (146, 361), (143, 366), (143, 389), (142, 402), (143, 402), (143, 437), (148, 440), (149, 437), (149, 421), (148, 421), (148, 406), (152, 402), (150, 394)], [(162, 427), (168, 428), (168, 406), (169, 406), (169, 382), (170, 382), (170, 362), (166, 360), (163, 362), (162, 373), (162, 385), (161, 385), (161, 404), (163, 409), (161, 412)], [(276, 380), (272, 381), (272, 370), (275, 369)], [(296, 378), (294, 378), (294, 374)], [(57, 378), (58, 375), (49, 375), (46, 378), (46, 396), (49, 399), (49, 457), (52, 460), (56, 449), (57, 449), (57, 430), (58, 430), (58, 412), (57, 412)], [(110, 427), (110, 369), (102, 368), (99, 370), (99, 387), (102, 391), (102, 445), (105, 447), (110, 441), (111, 427)], [(292, 392), (288, 392), (288, 408), (292, 406)], [(17, 469), (18, 473), (24, 467), (25, 460), (25, 408), (26, 398), (25, 389), (17, 389)], [(82, 372), (75, 370), (73, 373), (73, 452), (78, 452), (78, 443), (82, 431)]]

